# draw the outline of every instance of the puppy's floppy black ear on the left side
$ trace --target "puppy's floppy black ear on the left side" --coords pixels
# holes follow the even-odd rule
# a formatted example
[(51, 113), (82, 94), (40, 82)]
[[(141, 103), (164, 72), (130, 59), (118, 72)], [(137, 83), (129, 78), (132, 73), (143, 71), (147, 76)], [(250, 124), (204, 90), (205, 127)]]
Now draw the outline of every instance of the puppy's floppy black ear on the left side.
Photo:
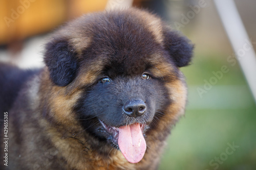
[(67, 40), (53, 40), (46, 44), (44, 61), (53, 83), (67, 86), (75, 79), (78, 69), (75, 56)]

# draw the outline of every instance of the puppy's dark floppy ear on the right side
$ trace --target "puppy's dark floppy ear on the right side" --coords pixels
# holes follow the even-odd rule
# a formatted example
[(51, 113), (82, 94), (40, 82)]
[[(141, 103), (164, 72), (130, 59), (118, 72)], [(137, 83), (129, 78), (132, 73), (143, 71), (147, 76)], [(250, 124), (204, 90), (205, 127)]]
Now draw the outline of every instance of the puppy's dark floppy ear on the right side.
[(193, 56), (194, 45), (177, 31), (165, 29), (163, 32), (165, 50), (178, 67), (186, 66)]

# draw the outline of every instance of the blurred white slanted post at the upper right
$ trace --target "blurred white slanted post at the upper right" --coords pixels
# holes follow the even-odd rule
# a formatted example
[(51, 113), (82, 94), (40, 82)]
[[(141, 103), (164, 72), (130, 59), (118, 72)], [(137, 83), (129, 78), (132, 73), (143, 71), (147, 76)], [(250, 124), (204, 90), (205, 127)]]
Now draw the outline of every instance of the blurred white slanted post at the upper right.
[(215, 0), (214, 2), (256, 102), (256, 55), (236, 4), (233, 0)]

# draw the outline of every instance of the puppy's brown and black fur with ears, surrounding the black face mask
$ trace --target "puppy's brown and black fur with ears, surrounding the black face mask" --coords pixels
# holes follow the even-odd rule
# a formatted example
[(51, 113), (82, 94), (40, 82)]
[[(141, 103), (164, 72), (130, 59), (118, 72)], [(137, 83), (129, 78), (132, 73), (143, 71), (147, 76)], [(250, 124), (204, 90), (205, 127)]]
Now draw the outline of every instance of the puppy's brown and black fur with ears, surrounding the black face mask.
[[(6, 110), (5, 168), (157, 169), (170, 128), (184, 113), (186, 86), (178, 67), (190, 62), (192, 49), (158, 17), (137, 9), (89, 14), (68, 23), (46, 45), (47, 67), (30, 78), (12, 110)], [(132, 164), (89, 132), (96, 125), (84, 128), (77, 112), (102, 76), (129, 79), (145, 70), (165, 91), (166, 99), (158, 100), (166, 104), (148, 122), (143, 159)]]

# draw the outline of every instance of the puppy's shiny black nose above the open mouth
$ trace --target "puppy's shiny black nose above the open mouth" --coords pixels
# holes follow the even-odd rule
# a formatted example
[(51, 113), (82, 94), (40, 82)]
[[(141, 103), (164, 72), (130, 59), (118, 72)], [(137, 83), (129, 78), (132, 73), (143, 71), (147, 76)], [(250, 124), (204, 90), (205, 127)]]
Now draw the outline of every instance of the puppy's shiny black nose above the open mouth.
[(146, 104), (142, 100), (128, 101), (123, 106), (123, 112), (130, 117), (139, 117), (146, 111)]

